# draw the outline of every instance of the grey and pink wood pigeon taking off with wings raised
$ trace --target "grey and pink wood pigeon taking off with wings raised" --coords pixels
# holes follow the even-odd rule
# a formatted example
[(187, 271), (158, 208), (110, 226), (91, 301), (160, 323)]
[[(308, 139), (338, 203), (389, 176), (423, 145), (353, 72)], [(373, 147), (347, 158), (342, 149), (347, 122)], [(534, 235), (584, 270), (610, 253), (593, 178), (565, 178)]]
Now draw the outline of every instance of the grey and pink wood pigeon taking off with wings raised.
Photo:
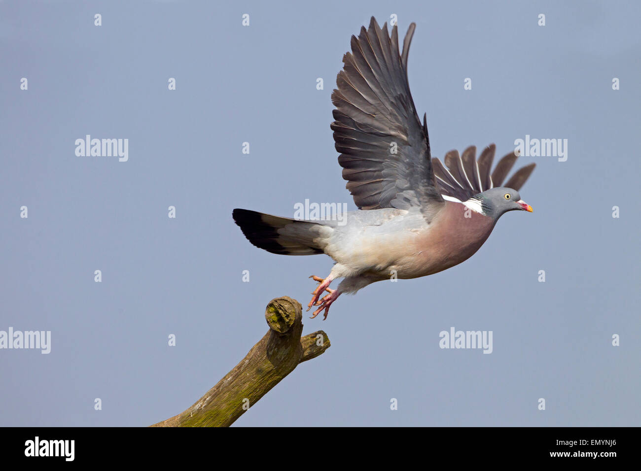
[[(233, 210), (249, 242), (274, 254), (327, 254), (336, 262), (319, 283), (308, 311), (312, 317), (342, 293), (397, 277), (427, 276), (470, 258), (507, 211), (532, 211), (519, 190), (534, 170), (522, 167), (503, 185), (517, 154), (504, 156), (490, 174), (495, 145), (478, 160), (476, 147), (432, 158), (426, 115), (420, 123), (407, 76), (416, 25), (410, 24), (399, 51), (397, 26), (387, 23), (351, 38), (337, 89), (331, 95), (338, 163), (358, 211), (337, 220), (297, 220), (256, 211)], [(343, 278), (338, 287), (330, 283)], [(327, 295), (320, 298), (324, 292)]]

